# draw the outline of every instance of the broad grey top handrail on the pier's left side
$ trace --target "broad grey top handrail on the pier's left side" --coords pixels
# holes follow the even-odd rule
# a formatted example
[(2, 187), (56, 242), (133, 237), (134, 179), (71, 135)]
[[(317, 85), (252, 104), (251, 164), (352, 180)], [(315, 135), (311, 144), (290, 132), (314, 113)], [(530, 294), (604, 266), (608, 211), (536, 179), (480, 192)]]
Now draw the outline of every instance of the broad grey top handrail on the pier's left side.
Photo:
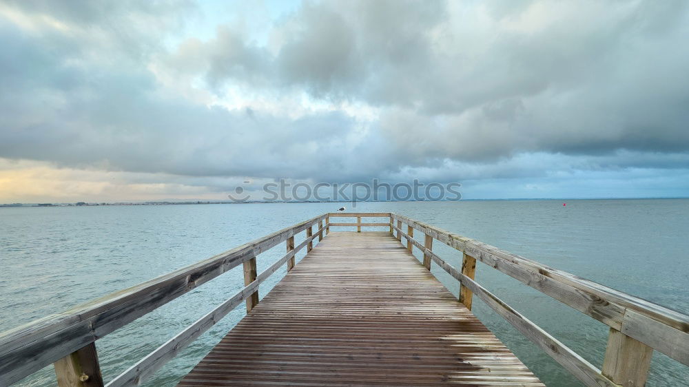
[[(322, 236), (322, 221), (325, 219), (327, 214), (316, 216), (207, 260), (0, 333), (0, 386), (8, 386), (49, 364), (63, 360), (69, 362), (70, 354), (78, 357), (81, 355), (78, 354), (79, 351), (92, 346), (97, 339), (240, 264), (253, 261), (255, 271), (256, 255), (281, 242), (294, 240), (294, 235), (312, 229), (314, 224), (319, 225), (319, 231), (309, 241)], [(292, 246), (294, 247), (294, 242)], [(293, 250), (291, 257), (287, 258), (288, 266), (289, 263), (294, 266), (294, 253), (297, 249)], [(94, 365), (94, 374), (99, 374), (95, 347), (91, 351), (95, 357), (90, 359)], [(60, 373), (57, 366), (56, 373)], [(76, 377), (79, 378), (80, 375)], [(100, 375), (81, 377), (101, 378)]]

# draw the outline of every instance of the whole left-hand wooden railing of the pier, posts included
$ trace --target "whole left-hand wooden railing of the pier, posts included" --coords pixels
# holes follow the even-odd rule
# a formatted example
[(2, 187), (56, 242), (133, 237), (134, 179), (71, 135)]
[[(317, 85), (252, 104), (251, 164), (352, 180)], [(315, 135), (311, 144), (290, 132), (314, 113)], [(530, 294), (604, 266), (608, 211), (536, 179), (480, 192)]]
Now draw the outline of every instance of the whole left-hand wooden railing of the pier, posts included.
[[(196, 264), (143, 282), (128, 289), (82, 304), (70, 311), (50, 315), (0, 334), (0, 386), (55, 365), (59, 386), (103, 386), (95, 342), (154, 309), (243, 264), (245, 287), (207, 313), (184, 331), (115, 377), (107, 386), (136, 386), (150, 377), (194, 339), (246, 300), (247, 311), (258, 303), (258, 285), (287, 263), (294, 267), (294, 255), (322, 240), (326, 214), (316, 216), (269, 236), (243, 244)], [(318, 230), (313, 233), (313, 226)], [(294, 236), (307, 232), (304, 242), (294, 246)], [(286, 242), (287, 253), (256, 275), (256, 256)]]

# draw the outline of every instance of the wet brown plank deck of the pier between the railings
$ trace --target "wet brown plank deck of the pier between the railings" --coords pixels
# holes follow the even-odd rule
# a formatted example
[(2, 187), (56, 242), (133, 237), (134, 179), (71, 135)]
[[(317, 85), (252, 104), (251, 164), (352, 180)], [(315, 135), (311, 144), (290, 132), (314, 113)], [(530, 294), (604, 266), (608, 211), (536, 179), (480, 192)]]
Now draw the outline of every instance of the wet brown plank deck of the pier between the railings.
[(389, 232), (333, 232), (179, 386), (542, 386)]

